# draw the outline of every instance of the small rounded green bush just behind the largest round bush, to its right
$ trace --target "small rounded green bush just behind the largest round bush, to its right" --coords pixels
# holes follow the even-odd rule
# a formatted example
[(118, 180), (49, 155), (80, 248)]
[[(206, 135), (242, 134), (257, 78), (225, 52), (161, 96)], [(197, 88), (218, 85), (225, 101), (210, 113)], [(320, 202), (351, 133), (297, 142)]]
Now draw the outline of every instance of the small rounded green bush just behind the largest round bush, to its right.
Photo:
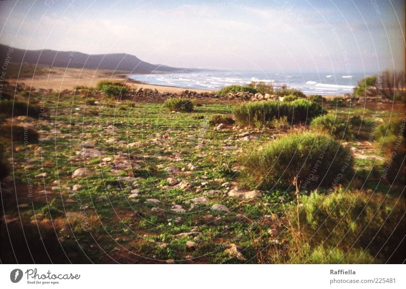
[(352, 125), (345, 119), (333, 115), (324, 115), (314, 118), (310, 123), (314, 131), (325, 132), (337, 139), (351, 139)]

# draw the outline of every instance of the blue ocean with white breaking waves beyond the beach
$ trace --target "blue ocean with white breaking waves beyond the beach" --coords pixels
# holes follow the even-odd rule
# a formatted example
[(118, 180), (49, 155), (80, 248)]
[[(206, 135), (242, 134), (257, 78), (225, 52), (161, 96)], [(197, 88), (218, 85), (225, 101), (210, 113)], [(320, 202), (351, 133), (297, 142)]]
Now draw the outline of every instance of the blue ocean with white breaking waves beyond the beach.
[(142, 83), (181, 88), (218, 90), (227, 85), (247, 85), (263, 81), (274, 86), (286, 84), (307, 95), (343, 95), (352, 93), (357, 82), (370, 74), (353, 73), (266, 73), (264, 71), (203, 71), (194, 73), (133, 74)]

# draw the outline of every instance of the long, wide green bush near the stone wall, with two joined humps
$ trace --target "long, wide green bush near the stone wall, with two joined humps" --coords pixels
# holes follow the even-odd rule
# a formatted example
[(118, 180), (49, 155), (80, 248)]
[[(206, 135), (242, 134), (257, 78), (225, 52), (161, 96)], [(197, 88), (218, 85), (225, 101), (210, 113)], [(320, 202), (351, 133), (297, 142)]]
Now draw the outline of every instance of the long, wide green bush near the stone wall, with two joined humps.
[(273, 119), (286, 117), (290, 123), (306, 123), (323, 114), (321, 105), (307, 99), (292, 102), (257, 101), (242, 103), (233, 109), (239, 125), (266, 125)]

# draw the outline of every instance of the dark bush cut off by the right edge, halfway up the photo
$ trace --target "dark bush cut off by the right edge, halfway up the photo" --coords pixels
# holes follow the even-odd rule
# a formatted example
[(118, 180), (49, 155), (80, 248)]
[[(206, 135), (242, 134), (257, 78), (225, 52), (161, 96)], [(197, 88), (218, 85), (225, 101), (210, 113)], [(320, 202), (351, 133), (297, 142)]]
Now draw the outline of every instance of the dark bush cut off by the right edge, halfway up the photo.
[(404, 185), (406, 181), (405, 164), (405, 119), (395, 119), (389, 124), (381, 124), (374, 132), (374, 143), (377, 147), (383, 148), (387, 153), (387, 161), (383, 169), (387, 180), (390, 183)]

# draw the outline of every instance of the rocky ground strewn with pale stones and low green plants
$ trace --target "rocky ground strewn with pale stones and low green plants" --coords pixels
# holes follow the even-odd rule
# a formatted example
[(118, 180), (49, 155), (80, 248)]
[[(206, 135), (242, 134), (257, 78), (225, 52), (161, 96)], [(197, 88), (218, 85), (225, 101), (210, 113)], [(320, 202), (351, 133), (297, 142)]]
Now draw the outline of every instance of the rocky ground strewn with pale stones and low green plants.
[[(159, 99), (173, 95), (154, 90), (119, 102), (92, 95), (92, 105), (80, 91), (33, 91), (30, 101), (42, 103), (47, 118), (13, 119), (37, 129), (40, 142), (4, 140), (13, 170), (2, 182), (3, 222), (20, 215), (51, 223), (62, 244), (77, 241), (85, 252), (79, 262), (263, 263), (263, 252), (266, 262), (284, 262), (283, 211), (293, 189), (244, 188), (236, 162), (281, 132), (209, 125), (211, 115), (232, 117), (225, 99), (259, 95), (179, 95), (199, 99), (194, 112), (166, 111)], [(374, 106), (329, 110), (376, 118)], [(366, 139), (365, 129), (363, 140), (347, 143), (360, 169), (384, 160)]]

